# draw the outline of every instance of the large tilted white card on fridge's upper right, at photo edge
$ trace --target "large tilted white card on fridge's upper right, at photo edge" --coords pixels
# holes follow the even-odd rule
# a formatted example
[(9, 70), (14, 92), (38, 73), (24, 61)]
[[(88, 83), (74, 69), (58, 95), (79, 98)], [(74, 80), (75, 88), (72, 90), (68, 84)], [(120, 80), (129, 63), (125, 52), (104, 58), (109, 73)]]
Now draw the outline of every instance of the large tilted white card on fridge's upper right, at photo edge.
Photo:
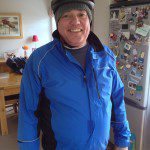
[(136, 29), (135, 33), (140, 34), (142, 36), (147, 36), (149, 31), (150, 31), (150, 26), (143, 24), (142, 27)]

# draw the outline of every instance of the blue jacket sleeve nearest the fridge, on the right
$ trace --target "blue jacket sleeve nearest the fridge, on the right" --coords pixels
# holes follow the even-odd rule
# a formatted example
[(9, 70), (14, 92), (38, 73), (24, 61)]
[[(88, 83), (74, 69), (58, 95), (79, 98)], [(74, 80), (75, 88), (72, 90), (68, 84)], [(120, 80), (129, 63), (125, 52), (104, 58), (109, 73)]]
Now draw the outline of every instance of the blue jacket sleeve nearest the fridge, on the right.
[(117, 147), (128, 147), (130, 143), (130, 129), (126, 117), (124, 103), (124, 85), (115, 68), (112, 86), (112, 121), (114, 141)]

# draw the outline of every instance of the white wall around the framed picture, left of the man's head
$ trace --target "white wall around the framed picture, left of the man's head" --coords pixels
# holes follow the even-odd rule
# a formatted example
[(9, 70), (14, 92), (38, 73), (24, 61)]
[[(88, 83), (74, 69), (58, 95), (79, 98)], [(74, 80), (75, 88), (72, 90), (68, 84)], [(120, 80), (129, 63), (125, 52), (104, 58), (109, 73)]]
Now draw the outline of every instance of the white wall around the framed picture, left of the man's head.
[(35, 47), (32, 36), (38, 35), (37, 47), (51, 40), (48, 10), (50, 0), (0, 0), (0, 13), (22, 15), (22, 39), (0, 39), (0, 56), (6, 51), (23, 52), (22, 46)]

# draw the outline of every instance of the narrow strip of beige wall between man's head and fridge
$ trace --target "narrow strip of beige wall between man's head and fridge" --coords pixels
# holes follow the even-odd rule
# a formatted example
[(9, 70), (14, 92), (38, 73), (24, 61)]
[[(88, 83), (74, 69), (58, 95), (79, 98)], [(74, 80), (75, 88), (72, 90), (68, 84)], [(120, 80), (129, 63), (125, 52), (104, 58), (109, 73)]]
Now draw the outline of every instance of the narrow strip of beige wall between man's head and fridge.
[(94, 33), (108, 45), (110, 0), (95, 0)]

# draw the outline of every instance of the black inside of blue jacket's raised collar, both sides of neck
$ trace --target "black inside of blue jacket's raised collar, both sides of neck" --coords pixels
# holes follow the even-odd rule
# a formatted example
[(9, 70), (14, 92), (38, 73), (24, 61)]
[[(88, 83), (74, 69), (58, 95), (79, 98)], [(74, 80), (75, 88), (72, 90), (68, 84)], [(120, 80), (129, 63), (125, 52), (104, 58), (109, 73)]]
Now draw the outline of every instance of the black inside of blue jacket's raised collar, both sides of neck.
[[(52, 36), (53, 36), (53, 38), (57, 38), (58, 40), (60, 40), (60, 35), (59, 35), (58, 30), (55, 30), (53, 32)], [(104, 50), (104, 47), (103, 47), (101, 41), (92, 31), (90, 31), (87, 41), (90, 45), (93, 46), (95, 52)]]

